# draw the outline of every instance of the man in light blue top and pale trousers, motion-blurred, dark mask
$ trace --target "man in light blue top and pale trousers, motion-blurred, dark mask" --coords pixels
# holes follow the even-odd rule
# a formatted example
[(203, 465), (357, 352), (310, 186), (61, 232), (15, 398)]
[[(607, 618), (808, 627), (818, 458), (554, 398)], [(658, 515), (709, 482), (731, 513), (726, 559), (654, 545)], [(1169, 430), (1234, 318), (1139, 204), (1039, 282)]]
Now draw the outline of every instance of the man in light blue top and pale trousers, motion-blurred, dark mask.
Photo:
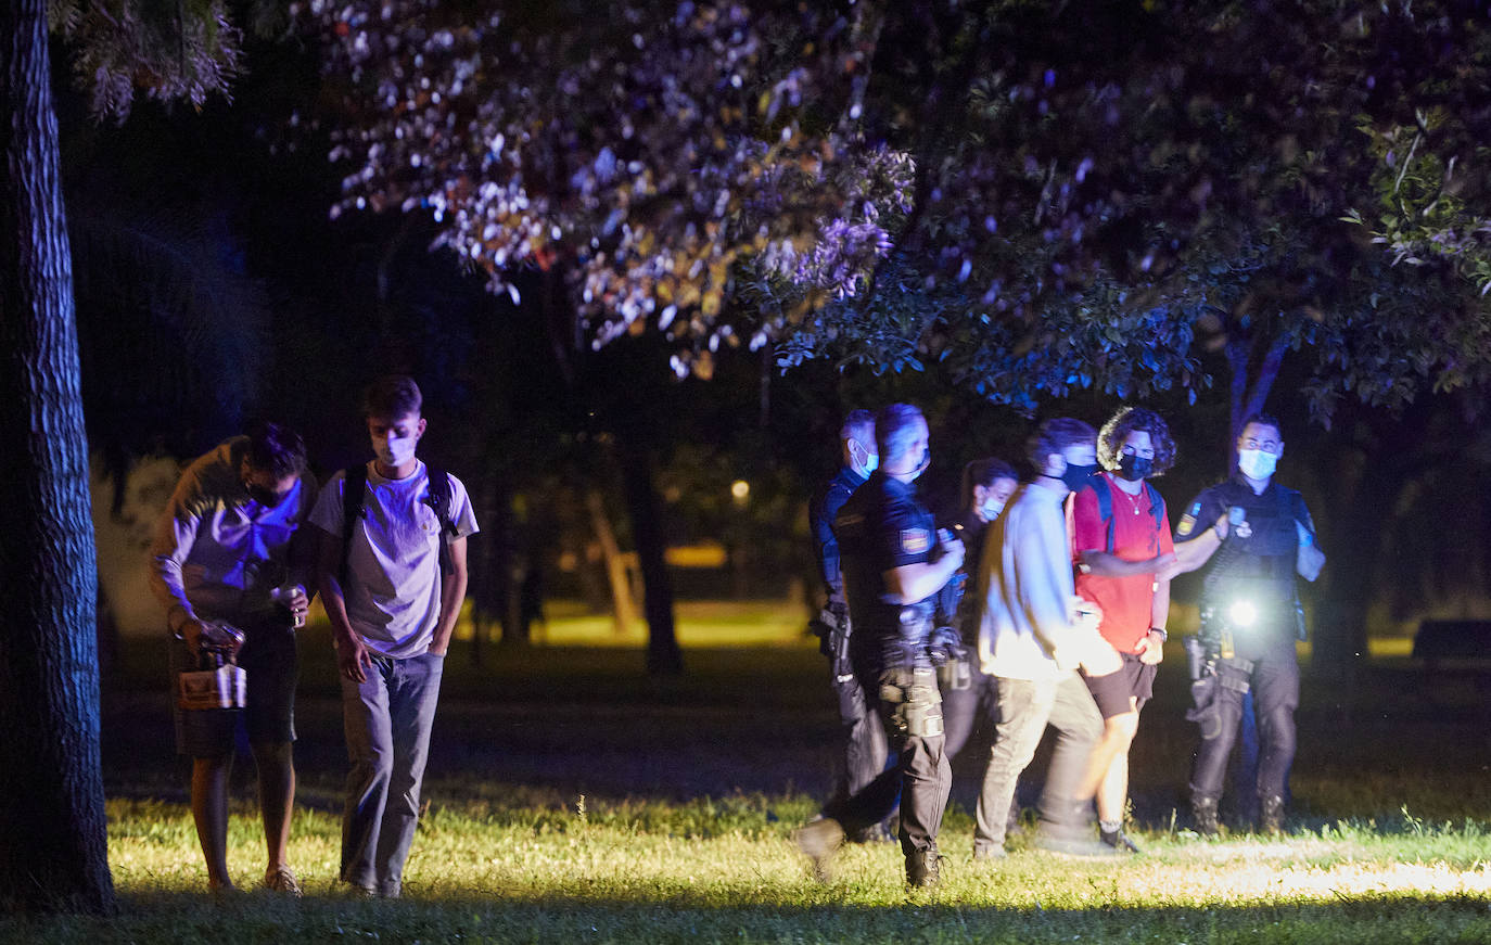
[[(1100, 614), (1077, 596), (1062, 510), (1066, 496), (1082, 489), (1097, 468), (1096, 438), (1091, 426), (1069, 417), (1041, 425), (1030, 440), (1030, 464), (1038, 475), (992, 526), (978, 581), (978, 657), (984, 672), (997, 677), (999, 690), (984, 809), (1009, 808), (1015, 780), (1050, 724), (1057, 741), (1035, 844), (1074, 856), (1117, 853), (1090, 836), (1087, 812), (1102, 777), (1093, 747), (1103, 720), (1077, 671), (1106, 675), (1118, 669), (1120, 660), (1097, 635)], [(1003, 824), (987, 827), (986, 856), (997, 857), (1003, 851)]]

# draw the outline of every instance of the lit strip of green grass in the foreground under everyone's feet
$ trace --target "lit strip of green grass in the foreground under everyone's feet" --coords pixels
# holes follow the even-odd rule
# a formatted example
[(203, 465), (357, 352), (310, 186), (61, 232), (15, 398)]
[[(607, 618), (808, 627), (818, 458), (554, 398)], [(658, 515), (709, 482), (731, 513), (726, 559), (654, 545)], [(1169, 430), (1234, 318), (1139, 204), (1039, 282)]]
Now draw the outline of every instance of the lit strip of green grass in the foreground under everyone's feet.
[[(511, 797), (511, 800), (501, 800)], [(850, 847), (810, 879), (787, 824), (802, 796), (559, 806), (528, 790), (438, 806), (420, 826), (407, 897), (361, 900), (331, 878), (337, 823), (303, 812), (294, 854), (307, 897), (200, 893), (179, 805), (109, 805), (122, 914), (112, 921), (0, 918), (15, 942), (1363, 942), (1487, 941), (1491, 872), (1481, 824), (1342, 823), (1266, 841), (1144, 832), (1145, 856), (1090, 863), (1017, 851), (953, 856), (945, 882), (908, 893), (890, 845)], [(261, 839), (236, 811), (231, 862)], [(966, 847), (954, 811), (947, 838)], [(950, 848), (953, 845), (950, 844)], [(237, 875), (250, 887), (256, 870)]]

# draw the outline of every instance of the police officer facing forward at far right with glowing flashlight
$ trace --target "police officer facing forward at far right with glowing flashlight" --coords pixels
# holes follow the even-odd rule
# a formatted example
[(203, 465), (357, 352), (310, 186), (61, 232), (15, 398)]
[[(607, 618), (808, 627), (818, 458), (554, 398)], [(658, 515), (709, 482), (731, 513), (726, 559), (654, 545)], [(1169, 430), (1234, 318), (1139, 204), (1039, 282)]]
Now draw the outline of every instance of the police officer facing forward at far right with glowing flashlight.
[(1294, 575), (1314, 581), (1325, 563), (1300, 493), (1273, 481), (1284, 455), (1279, 422), (1248, 417), (1236, 446), (1232, 478), (1196, 496), (1175, 529), (1181, 571), (1206, 568), (1199, 678), (1191, 687), (1196, 707), (1187, 717), (1200, 724), (1202, 736), (1191, 771), (1191, 815), (1208, 836), (1218, 830), (1227, 756), (1249, 689), (1261, 741), (1258, 826), (1267, 833), (1284, 829), (1300, 690), (1294, 641), (1305, 638)]

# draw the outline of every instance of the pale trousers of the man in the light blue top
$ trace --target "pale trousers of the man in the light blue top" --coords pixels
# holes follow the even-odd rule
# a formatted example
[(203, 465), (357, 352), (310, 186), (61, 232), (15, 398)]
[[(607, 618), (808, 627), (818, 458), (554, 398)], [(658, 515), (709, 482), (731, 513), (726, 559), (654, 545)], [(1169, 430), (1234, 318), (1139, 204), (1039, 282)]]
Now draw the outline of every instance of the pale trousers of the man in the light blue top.
[(1075, 671), (1059, 680), (1011, 680), (1000, 677), (999, 724), (989, 753), (984, 784), (978, 797), (978, 826), (974, 850), (1002, 847), (1005, 817), (1015, 796), (1015, 781), (1041, 744), (1045, 726), (1057, 730), (1051, 769), (1041, 793), (1041, 829), (1062, 835), (1085, 832), (1085, 803), (1078, 786), (1097, 739), (1103, 717)]

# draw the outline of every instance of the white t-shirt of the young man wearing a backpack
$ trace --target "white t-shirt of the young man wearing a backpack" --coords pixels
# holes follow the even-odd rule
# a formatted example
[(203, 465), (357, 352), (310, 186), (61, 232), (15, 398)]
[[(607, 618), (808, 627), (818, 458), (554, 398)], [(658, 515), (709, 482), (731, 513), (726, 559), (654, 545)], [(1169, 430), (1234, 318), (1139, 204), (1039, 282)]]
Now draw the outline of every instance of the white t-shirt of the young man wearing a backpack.
[[(347, 553), (347, 586), (341, 596), (352, 629), (380, 656), (422, 656), (440, 623), (440, 541), (435, 510), (425, 501), (429, 474), (420, 462), (404, 478), (383, 478), (368, 464), (362, 526)], [(310, 522), (341, 540), (341, 484), (337, 472), (321, 490)], [(465, 486), (450, 475), (450, 520), (455, 541), (477, 531)]]

